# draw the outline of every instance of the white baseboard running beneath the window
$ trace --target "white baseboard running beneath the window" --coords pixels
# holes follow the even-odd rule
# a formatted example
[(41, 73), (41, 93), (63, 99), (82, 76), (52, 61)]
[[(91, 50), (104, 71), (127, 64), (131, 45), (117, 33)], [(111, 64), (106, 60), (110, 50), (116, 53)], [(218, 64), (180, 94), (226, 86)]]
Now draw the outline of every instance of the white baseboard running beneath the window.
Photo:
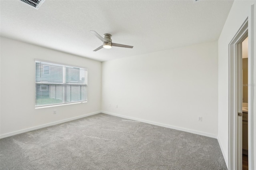
[(26, 128), (26, 129), (18, 130), (18, 131), (15, 131), (15, 132), (1, 134), (0, 138), (6, 138), (6, 137), (9, 137), (9, 136), (13, 136), (13, 135), (16, 135), (16, 134), (28, 132), (28, 131), (31, 131), (31, 130), (36, 130), (36, 129), (39, 129), (39, 128), (49, 127), (49, 126), (52, 126), (52, 125), (57, 125), (57, 124), (60, 124), (60, 123), (64, 123), (64, 122), (68, 122), (68, 121), (73, 121), (73, 120), (80, 119), (80, 118), (83, 118), (83, 117), (88, 117), (88, 116), (91, 116), (91, 115), (96, 115), (98, 113), (102, 113), (102, 112), (98, 111), (98, 112), (89, 113), (89, 114), (78, 116), (78, 117), (72, 117), (72, 118), (69, 118), (69, 119), (64, 119), (64, 120), (61, 120), (61, 121), (47, 123), (47, 124), (36, 126), (36, 127), (31, 127), (31, 128)]

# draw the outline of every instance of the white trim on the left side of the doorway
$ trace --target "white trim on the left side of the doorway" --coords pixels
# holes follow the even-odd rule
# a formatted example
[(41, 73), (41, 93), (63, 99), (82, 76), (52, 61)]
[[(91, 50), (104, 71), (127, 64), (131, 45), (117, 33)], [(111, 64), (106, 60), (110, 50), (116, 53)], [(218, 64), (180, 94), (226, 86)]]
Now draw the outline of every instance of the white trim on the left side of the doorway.
[(238, 157), (238, 47), (242, 38), (248, 32), (248, 18), (242, 24), (234, 38), (229, 44), (229, 168), (230, 170), (239, 170), (240, 158)]

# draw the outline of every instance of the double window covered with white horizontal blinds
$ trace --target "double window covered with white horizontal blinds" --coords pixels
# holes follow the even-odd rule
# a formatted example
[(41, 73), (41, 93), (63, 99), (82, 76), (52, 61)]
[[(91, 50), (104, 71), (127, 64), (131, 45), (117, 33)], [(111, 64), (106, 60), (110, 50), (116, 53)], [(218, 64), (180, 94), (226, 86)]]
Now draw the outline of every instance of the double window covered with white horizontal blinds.
[(87, 101), (87, 69), (36, 61), (36, 107)]

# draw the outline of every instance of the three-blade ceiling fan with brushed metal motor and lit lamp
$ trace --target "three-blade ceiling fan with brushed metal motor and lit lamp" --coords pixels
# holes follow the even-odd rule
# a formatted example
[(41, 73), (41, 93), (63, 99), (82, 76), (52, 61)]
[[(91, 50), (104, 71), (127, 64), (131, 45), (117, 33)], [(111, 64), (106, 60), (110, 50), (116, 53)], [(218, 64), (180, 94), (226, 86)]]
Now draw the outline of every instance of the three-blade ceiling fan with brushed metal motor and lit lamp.
[(112, 46), (115, 47), (125, 47), (125, 48), (133, 48), (133, 46), (130, 45), (123, 45), (120, 43), (112, 43), (111, 40), (111, 34), (104, 34), (104, 38), (102, 36), (100, 36), (98, 33), (96, 33), (95, 31), (90, 31), (92, 32), (96, 37), (98, 37), (98, 39), (100, 39), (103, 42), (103, 45), (101, 45), (100, 47), (94, 49), (93, 51), (98, 51), (99, 49), (104, 48), (111, 48)]

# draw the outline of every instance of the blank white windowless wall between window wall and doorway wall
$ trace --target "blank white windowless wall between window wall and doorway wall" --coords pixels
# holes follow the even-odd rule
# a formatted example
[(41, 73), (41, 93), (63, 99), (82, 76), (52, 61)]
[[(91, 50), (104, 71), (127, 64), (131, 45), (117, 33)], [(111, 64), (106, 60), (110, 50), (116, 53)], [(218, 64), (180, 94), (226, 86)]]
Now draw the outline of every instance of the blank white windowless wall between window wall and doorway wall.
[(217, 42), (103, 62), (102, 111), (216, 137)]

